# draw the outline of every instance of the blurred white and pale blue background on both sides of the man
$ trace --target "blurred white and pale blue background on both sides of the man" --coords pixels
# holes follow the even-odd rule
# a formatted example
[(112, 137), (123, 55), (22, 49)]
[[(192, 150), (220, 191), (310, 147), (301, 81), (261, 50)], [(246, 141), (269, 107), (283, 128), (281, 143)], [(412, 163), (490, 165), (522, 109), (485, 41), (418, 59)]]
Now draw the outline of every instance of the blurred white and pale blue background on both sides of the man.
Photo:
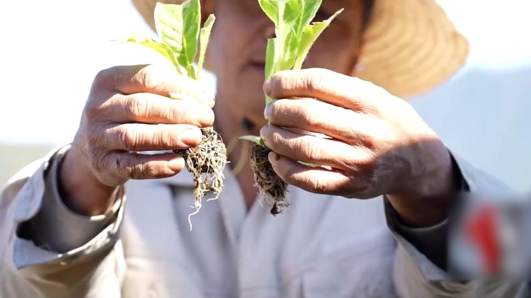
[[(325, 0), (326, 1), (326, 0)], [(470, 40), (467, 65), (410, 100), (457, 155), (531, 190), (531, 1), (439, 0)], [(6, 1), (0, 9), (0, 185), (73, 138), (94, 75), (149, 63), (128, 47), (151, 34), (129, 0)], [(209, 88), (215, 78), (205, 76)]]

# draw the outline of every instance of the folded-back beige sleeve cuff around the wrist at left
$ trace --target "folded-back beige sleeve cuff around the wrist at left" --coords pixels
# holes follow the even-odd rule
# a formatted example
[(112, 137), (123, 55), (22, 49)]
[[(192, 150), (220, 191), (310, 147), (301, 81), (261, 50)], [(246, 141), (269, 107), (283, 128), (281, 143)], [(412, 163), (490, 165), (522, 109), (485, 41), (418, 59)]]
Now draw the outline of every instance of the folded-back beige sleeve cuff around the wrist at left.
[[(112, 209), (103, 215), (83, 216), (66, 207), (58, 191), (59, 165), (70, 145), (60, 148), (49, 159), (44, 171), (44, 191), (35, 216), (20, 218), (14, 241), (14, 264), (18, 268), (46, 262), (70, 262), (112, 246), (118, 237), (125, 200), (124, 188), (118, 187)], [(41, 179), (42, 179), (41, 178)], [(22, 199), (24, 200), (24, 199)]]

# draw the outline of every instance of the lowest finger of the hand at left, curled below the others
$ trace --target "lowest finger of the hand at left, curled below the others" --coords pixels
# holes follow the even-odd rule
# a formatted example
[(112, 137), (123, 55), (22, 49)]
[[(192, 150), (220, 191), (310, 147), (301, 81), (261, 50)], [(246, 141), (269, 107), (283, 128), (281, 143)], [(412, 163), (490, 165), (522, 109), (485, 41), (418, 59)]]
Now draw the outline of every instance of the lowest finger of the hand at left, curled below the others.
[(101, 160), (99, 172), (112, 177), (113, 185), (128, 179), (168, 178), (181, 172), (185, 162), (174, 153), (144, 155), (138, 153), (112, 152)]

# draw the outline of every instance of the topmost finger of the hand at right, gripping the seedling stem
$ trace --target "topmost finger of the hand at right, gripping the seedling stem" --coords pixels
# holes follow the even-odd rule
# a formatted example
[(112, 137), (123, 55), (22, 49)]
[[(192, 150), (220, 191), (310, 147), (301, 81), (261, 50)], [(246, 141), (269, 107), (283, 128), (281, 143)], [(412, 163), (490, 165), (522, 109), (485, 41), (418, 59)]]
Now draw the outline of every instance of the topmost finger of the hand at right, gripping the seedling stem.
[(370, 109), (372, 99), (389, 94), (370, 82), (323, 68), (278, 72), (264, 83), (264, 92), (273, 99), (316, 98), (362, 111)]

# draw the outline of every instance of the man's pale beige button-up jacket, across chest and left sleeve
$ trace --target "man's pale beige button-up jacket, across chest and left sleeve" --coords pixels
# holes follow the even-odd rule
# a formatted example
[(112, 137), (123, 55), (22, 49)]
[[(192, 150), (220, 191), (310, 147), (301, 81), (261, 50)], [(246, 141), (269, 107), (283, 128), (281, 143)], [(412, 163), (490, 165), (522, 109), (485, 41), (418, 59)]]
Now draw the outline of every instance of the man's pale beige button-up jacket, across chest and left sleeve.
[[(449, 281), (393, 236), (382, 198), (348, 200), (292, 188), (293, 204), (274, 217), (261, 204), (246, 212), (227, 176), (220, 199), (203, 205), (190, 231), (187, 173), (127, 182), (126, 201), (118, 193), (112, 212), (83, 217), (58, 198), (57, 159), (50, 157), (16, 174), (2, 192), (2, 298), (478, 297), (485, 291), (512, 297), (523, 291), (521, 284)], [(499, 190), (485, 174), (458, 164), (473, 191)], [(22, 224), (28, 221), (34, 232)], [(52, 242), (64, 253), (50, 249)]]

